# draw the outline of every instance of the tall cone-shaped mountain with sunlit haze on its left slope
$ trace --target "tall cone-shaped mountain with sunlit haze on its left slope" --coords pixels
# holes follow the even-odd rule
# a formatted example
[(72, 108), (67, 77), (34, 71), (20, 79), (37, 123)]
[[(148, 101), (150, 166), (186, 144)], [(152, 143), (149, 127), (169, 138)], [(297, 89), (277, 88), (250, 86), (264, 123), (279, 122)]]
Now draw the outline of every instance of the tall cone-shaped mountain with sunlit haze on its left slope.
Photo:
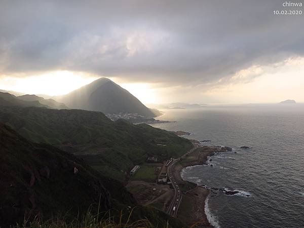
[(107, 78), (100, 78), (66, 95), (55, 97), (55, 99), (70, 108), (115, 114), (137, 113), (147, 118), (156, 117), (154, 111)]

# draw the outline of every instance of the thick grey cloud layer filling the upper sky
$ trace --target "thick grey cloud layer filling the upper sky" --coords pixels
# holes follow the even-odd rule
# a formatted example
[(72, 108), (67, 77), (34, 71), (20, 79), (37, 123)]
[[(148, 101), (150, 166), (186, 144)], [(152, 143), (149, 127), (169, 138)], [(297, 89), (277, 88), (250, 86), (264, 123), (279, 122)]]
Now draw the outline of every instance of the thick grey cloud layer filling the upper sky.
[(304, 16), (273, 15), (281, 9), (278, 0), (2, 1), (0, 72), (209, 84), (303, 54)]

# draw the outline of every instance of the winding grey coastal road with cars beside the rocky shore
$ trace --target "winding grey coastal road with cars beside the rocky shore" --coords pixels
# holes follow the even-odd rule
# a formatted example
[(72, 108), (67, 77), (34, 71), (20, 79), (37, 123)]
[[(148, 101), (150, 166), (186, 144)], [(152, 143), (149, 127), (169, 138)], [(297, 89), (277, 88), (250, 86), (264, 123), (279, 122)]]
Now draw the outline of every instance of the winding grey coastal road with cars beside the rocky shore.
[[(197, 146), (195, 146), (194, 148), (189, 150), (181, 158), (184, 158), (186, 155), (192, 153), (196, 148), (197, 148)], [(181, 191), (180, 191), (180, 187), (178, 186), (177, 181), (175, 180), (174, 175), (173, 175), (174, 166), (177, 162), (179, 162), (179, 160), (180, 159), (174, 159), (167, 166), (167, 175), (168, 175), (168, 178), (169, 178), (169, 180), (172, 183), (172, 186), (174, 188), (174, 196), (173, 196), (173, 198), (171, 200), (171, 203), (170, 203), (170, 206), (167, 210), (167, 214), (169, 214), (173, 217), (176, 217), (177, 211), (178, 211), (179, 205), (181, 203), (181, 199), (182, 199), (182, 194), (181, 194)]]

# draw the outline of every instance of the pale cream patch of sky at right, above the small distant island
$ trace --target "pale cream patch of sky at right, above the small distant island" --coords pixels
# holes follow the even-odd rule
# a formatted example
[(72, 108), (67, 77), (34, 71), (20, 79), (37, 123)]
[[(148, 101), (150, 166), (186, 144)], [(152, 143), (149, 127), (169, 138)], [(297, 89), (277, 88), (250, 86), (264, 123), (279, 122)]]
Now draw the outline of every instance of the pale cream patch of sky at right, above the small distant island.
[(231, 78), (232, 81), (239, 79), (238, 83), (210, 89), (202, 96), (223, 103), (277, 103), (287, 99), (304, 102), (303, 72), (304, 57), (289, 58), (267, 66), (252, 66)]

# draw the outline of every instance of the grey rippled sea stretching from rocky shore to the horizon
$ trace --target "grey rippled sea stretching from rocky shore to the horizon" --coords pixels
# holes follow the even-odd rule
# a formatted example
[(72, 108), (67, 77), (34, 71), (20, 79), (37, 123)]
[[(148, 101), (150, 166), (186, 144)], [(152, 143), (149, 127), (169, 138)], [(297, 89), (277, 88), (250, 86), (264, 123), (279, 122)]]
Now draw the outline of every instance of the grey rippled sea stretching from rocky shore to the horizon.
[(194, 133), (188, 138), (234, 148), (213, 156), (212, 167), (182, 172), (186, 180), (250, 196), (210, 194), (206, 209), (215, 226), (304, 227), (304, 104), (165, 111), (160, 119), (177, 122), (154, 127), (188, 131)]

